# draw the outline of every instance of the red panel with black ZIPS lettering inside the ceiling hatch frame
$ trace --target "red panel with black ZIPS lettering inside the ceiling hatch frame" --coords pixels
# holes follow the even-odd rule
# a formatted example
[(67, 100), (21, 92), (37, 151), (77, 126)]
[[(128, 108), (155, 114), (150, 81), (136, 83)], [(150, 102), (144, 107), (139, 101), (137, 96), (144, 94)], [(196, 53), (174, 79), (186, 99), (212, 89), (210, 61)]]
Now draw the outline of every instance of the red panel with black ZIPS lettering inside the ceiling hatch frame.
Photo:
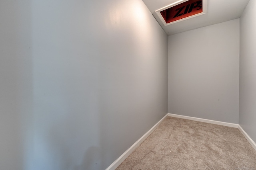
[(182, 4), (178, 4), (176, 6), (172, 6), (171, 8), (160, 11), (160, 14), (166, 23), (171, 23), (173, 21), (181, 20), (202, 12), (202, 0), (188, 0)]

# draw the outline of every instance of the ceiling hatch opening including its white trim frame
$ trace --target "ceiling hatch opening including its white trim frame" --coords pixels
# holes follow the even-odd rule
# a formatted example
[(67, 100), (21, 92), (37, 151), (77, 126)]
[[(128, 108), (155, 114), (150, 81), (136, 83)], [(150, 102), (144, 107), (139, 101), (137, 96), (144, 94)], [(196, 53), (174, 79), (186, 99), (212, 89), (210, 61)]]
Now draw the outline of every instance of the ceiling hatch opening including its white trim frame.
[(206, 0), (183, 0), (180, 4), (171, 4), (156, 12), (164, 25), (169, 25), (171, 23), (205, 14)]

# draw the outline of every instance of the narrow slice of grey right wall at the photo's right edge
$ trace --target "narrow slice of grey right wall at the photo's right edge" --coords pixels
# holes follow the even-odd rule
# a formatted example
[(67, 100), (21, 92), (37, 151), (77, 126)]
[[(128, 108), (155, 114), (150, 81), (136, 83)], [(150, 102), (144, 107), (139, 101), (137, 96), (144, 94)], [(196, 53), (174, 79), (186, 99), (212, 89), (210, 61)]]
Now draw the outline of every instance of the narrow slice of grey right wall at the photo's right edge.
[(240, 18), (239, 124), (256, 142), (256, 0)]

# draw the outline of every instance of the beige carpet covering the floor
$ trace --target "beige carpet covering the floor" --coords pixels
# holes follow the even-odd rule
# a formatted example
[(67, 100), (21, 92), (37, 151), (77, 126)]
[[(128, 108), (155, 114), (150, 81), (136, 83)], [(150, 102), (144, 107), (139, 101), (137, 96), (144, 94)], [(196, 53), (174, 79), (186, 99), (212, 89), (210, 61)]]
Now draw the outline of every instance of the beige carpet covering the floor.
[(166, 117), (116, 170), (256, 170), (256, 151), (237, 128)]

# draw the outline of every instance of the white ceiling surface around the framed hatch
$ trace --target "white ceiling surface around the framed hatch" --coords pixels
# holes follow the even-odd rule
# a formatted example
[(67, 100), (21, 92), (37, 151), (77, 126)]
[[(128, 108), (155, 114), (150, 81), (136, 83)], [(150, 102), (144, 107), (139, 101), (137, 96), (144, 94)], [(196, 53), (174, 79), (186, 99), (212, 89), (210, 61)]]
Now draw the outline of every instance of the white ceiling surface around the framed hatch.
[(207, 0), (206, 14), (164, 26), (155, 11), (175, 3), (178, 0), (142, 1), (168, 35), (240, 18), (249, 2), (249, 0)]

